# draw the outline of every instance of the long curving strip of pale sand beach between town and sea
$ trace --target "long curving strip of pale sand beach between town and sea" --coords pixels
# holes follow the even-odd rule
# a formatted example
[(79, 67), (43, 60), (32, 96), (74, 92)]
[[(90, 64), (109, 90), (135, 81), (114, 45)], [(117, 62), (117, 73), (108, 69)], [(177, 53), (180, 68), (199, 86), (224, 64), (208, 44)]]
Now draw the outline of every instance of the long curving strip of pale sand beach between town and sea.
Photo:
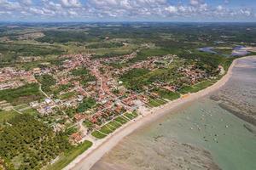
[(90, 149), (86, 150), (83, 154), (74, 159), (64, 169), (90, 169), (90, 167), (92, 167), (96, 163), (96, 161), (99, 161), (105, 153), (111, 150), (116, 144), (119, 143), (121, 139), (125, 138), (125, 136), (134, 132), (138, 127), (142, 127), (143, 125), (146, 125), (148, 122), (152, 122), (160, 118), (160, 116), (170, 113), (170, 111), (173, 111), (178, 106), (189, 103), (195, 99), (204, 97), (207, 94), (210, 94), (213, 91), (217, 90), (218, 88), (221, 88), (230, 79), (233, 67), (236, 65), (236, 61), (237, 59), (233, 60), (229, 70), (224, 75), (224, 77), (219, 79), (218, 82), (215, 82), (212, 86), (208, 88), (202, 89), (201, 91), (194, 94), (189, 94), (184, 98), (179, 98), (170, 101), (166, 105), (161, 105), (151, 110), (145, 110), (145, 108), (141, 108), (140, 112), (142, 115), (138, 116), (134, 121), (128, 122), (122, 127), (119, 127), (118, 130), (116, 130), (114, 133), (109, 134), (105, 139), (99, 139), (96, 142), (94, 142)]

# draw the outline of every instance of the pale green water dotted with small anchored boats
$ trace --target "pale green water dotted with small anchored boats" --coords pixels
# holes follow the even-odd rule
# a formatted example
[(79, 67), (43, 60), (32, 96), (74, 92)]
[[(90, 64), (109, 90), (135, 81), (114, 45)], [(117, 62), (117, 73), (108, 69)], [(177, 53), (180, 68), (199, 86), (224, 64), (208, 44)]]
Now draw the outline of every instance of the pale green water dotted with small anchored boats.
[[(201, 99), (164, 117), (143, 135), (163, 135), (209, 150), (222, 169), (256, 169), (256, 138), (242, 121), (211, 99)], [(161, 124), (161, 126), (160, 126)]]

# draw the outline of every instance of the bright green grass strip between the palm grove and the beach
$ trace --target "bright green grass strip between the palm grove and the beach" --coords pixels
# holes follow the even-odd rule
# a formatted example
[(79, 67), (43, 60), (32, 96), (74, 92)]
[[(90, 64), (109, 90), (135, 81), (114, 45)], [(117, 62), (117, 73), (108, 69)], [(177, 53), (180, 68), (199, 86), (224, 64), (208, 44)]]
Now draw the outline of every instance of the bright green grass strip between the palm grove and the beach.
[(73, 148), (73, 150), (68, 151), (64, 156), (61, 156), (59, 161), (56, 161), (54, 164), (46, 167), (47, 170), (61, 170), (66, 167), (71, 161), (73, 161), (77, 156), (84, 153), (85, 150), (88, 150), (92, 142), (85, 140), (83, 144)]

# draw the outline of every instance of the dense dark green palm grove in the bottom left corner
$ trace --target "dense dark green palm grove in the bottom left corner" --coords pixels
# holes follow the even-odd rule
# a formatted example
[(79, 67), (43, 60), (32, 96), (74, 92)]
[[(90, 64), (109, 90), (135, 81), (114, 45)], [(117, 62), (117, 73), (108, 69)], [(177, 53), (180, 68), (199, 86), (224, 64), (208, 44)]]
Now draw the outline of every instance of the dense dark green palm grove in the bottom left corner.
[(11, 163), (9, 169), (38, 169), (71, 147), (63, 133), (32, 116), (15, 116), (9, 124), (0, 132), (0, 156)]

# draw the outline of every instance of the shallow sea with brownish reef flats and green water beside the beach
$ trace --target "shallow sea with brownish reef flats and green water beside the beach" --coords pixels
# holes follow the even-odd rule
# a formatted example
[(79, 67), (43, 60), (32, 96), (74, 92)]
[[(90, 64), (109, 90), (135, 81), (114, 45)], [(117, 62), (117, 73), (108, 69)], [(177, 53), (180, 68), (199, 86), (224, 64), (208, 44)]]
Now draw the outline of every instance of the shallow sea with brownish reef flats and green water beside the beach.
[(255, 82), (256, 58), (242, 59), (214, 100), (209, 95), (138, 129), (92, 169), (256, 169), (256, 134), (244, 127), (247, 119), (219, 106), (253, 119)]

